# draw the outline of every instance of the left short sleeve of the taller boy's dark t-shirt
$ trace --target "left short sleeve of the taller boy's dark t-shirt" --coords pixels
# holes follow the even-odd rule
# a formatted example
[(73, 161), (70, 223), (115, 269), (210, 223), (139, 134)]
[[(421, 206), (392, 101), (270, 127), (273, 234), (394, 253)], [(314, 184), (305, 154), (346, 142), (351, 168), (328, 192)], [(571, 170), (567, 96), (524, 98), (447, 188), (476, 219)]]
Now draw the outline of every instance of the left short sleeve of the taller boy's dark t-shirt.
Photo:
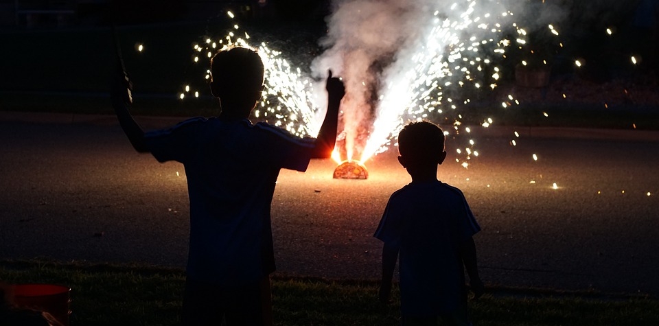
[(185, 163), (192, 156), (196, 135), (207, 119), (196, 117), (182, 121), (176, 126), (154, 130), (144, 134), (144, 140), (151, 154), (159, 161)]

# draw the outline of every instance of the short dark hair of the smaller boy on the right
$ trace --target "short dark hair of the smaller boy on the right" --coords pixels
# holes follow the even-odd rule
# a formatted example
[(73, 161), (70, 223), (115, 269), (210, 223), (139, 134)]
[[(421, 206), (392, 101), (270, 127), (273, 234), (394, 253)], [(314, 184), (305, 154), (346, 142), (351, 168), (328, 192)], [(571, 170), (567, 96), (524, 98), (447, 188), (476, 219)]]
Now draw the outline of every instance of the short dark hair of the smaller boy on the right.
[(411, 159), (432, 158), (432, 153), (443, 152), (444, 132), (430, 121), (412, 121), (398, 134), (398, 152)]

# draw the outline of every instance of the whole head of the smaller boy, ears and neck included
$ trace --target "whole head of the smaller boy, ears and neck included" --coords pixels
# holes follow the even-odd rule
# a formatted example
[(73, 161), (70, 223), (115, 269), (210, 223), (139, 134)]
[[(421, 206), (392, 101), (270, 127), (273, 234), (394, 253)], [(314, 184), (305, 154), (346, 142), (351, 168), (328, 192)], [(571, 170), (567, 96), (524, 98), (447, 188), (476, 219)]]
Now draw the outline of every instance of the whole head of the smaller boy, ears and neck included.
[(407, 124), (398, 134), (398, 161), (410, 174), (419, 169), (435, 169), (446, 159), (444, 132), (430, 121)]

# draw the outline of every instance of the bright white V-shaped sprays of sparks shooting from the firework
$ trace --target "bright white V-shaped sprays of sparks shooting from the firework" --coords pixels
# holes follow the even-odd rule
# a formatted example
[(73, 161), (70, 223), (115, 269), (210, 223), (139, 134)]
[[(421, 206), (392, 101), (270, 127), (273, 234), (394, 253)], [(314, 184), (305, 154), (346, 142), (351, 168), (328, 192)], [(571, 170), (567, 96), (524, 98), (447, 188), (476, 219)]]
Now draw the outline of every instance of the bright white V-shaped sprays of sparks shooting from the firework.
[[(451, 10), (460, 12), (459, 18), (454, 14), (447, 17), (446, 10), (435, 10), (435, 20), (428, 26), (427, 30), (419, 32), (422, 39), (419, 40), (421, 47), (413, 47), (410, 51), (402, 51), (397, 54), (406, 62), (404, 66), (388, 67), (382, 75), (387, 78), (379, 81), (382, 89), (377, 90), (377, 96), (366, 98), (377, 98), (377, 101), (367, 107), (372, 110), (369, 119), (372, 121), (349, 121), (351, 110), (358, 110), (359, 105), (342, 104), (343, 126), (344, 130), (339, 133), (344, 137), (345, 153), (333, 153), (336, 155), (346, 155), (335, 161), (345, 161), (354, 159), (355, 161), (364, 162), (371, 156), (379, 154), (395, 145), (397, 133), (402, 129), (406, 121), (418, 119), (438, 119), (438, 115), (451, 110), (459, 110), (461, 105), (470, 103), (466, 97), (456, 99), (447, 98), (447, 89), (455, 89), (472, 85), (475, 89), (481, 89), (481, 85), (489, 85), (489, 89), (497, 87), (496, 80), (501, 78), (500, 67), (488, 68), (492, 65), (494, 58), (506, 58), (507, 48), (511, 46), (527, 46), (529, 40), (526, 40), (527, 30), (518, 24), (512, 22), (506, 25), (513, 16), (513, 12), (502, 10), (500, 15), (485, 14), (476, 16), (476, 1), (468, 1), (467, 5), (454, 3)], [(503, 8), (502, 8), (503, 9)], [(432, 11), (429, 12), (432, 14)], [(233, 19), (235, 15), (227, 12), (227, 15)], [(505, 20), (502, 17), (507, 17)], [(478, 23), (476, 23), (478, 22)], [(511, 40), (505, 38), (506, 29), (513, 26), (518, 31), (518, 37)], [(553, 32), (556, 31), (554, 25), (548, 25)], [(233, 30), (227, 32), (227, 35), (218, 39), (205, 37), (205, 44), (195, 44), (194, 53), (211, 58), (217, 49), (227, 49), (233, 46), (250, 47), (257, 49), (257, 52), (264, 61), (265, 66), (265, 83), (262, 99), (254, 110), (254, 115), (259, 119), (264, 119), (275, 126), (285, 128), (293, 135), (299, 137), (314, 137), (320, 129), (324, 111), (322, 104), (325, 101), (322, 97), (316, 95), (314, 89), (317, 83), (324, 80), (314, 80), (301, 69), (294, 67), (292, 63), (284, 58), (284, 54), (277, 49), (271, 49), (268, 44), (260, 43), (257, 45), (250, 44), (248, 34), (240, 37), (238, 25), (233, 25)], [(555, 32), (557, 34), (557, 32)], [(248, 43), (248, 40), (250, 40)], [(489, 47), (489, 49), (488, 49)], [(344, 54), (347, 55), (347, 54)], [(203, 62), (199, 56), (194, 56), (194, 62)], [(411, 62), (411, 65), (409, 64)], [(527, 65), (526, 60), (522, 60), (522, 65)], [(344, 62), (349, 65), (349, 62)], [(345, 68), (344, 68), (345, 69)], [(492, 71), (492, 73), (485, 73)], [(345, 72), (343, 77), (347, 77)], [(210, 79), (210, 72), (207, 71), (205, 79)], [(346, 82), (351, 80), (348, 78)], [(373, 83), (369, 80), (354, 80), (362, 89), (372, 89)], [(189, 89), (186, 87), (186, 93)], [(351, 90), (347, 87), (347, 92)], [(198, 92), (194, 93), (198, 97)], [(180, 94), (181, 100), (185, 94)], [(513, 104), (520, 104), (512, 95), (508, 95), (510, 102), (502, 102), (502, 106), (507, 108)], [(320, 103), (320, 104), (319, 104)], [(372, 107), (371, 107), (372, 106)], [(545, 116), (546, 113), (544, 113)], [(462, 117), (460, 116), (460, 119)], [(368, 126), (365, 134), (360, 135), (355, 128), (349, 126)], [(459, 122), (459, 121), (456, 121)], [(494, 123), (492, 118), (483, 121), (481, 127), (488, 128)], [(468, 134), (472, 130), (467, 126), (455, 124), (456, 131), (465, 130)], [(516, 137), (520, 137), (515, 132)], [(456, 135), (460, 135), (456, 133)], [(466, 135), (466, 134), (463, 134)], [(470, 146), (476, 145), (473, 139), (460, 139), (468, 141)], [(513, 144), (514, 145), (514, 144)], [(478, 156), (474, 148), (469, 148), (459, 154), (469, 159), (469, 155)], [(535, 154), (534, 154), (535, 155)], [(536, 158), (537, 160), (537, 158)], [(463, 162), (463, 167), (468, 164)]]

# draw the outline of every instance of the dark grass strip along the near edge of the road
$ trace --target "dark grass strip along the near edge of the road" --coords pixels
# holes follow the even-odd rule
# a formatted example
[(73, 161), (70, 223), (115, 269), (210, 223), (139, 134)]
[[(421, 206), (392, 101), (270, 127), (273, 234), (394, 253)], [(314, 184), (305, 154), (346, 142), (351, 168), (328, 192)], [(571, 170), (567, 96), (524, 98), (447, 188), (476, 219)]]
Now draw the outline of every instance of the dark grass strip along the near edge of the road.
[[(177, 325), (185, 274), (135, 264), (0, 261), (0, 280), (69, 286), (71, 326)], [(659, 300), (647, 296), (487, 290), (470, 301), (476, 325), (659, 325)], [(398, 325), (398, 305), (381, 305), (377, 293), (372, 281), (274, 277), (275, 325)]]

